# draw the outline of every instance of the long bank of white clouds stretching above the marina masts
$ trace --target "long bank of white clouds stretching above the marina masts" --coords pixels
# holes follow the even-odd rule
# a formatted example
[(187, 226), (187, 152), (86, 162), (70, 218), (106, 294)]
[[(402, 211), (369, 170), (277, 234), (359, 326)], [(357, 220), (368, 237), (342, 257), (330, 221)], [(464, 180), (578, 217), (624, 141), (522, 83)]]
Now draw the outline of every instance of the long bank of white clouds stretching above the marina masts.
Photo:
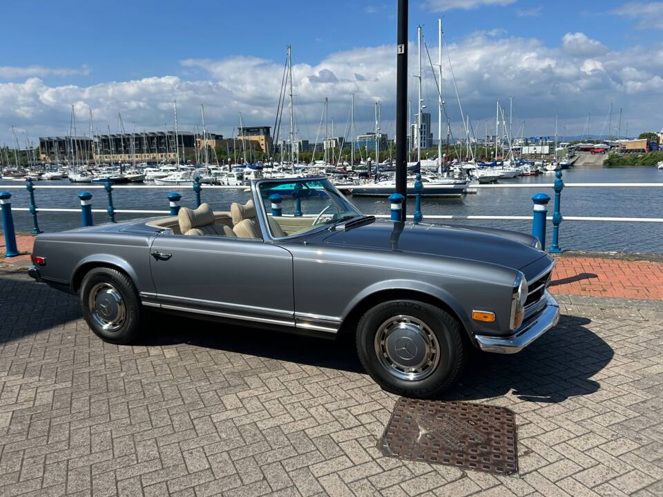
[[(663, 43), (609, 50), (582, 34), (564, 37), (559, 48), (537, 39), (474, 33), (448, 47), (463, 108), (475, 129), (483, 119), (494, 120), (494, 102), (514, 97), (515, 120), (526, 120), (526, 133), (548, 133), (559, 112), (567, 134), (579, 133), (587, 113), (604, 115), (608, 104), (624, 108), (630, 130), (660, 128), (651, 102), (663, 99), (663, 59), (651, 57)], [(410, 72), (416, 68), (416, 44), (410, 43)], [(430, 47), (437, 59), (437, 48)], [(294, 61), (297, 60), (295, 47)], [(79, 130), (87, 132), (88, 107), (102, 131), (117, 130), (121, 112), (127, 130), (163, 129), (173, 124), (177, 99), (180, 129), (200, 126), (200, 104), (214, 133), (230, 135), (242, 112), (247, 125), (273, 126), (285, 53), (280, 61), (259, 57), (186, 59), (182, 75), (133, 81), (109, 81), (92, 86), (46, 84), (40, 78), (0, 83), (0, 144), (10, 141), (10, 126), (28, 130), (31, 137), (62, 135), (69, 128), (70, 106), (75, 105)], [(424, 55), (423, 98), (436, 121), (436, 89)], [(186, 77), (184, 77), (186, 75)], [(446, 70), (445, 98), (452, 121), (459, 111), (450, 73)], [(323, 101), (329, 97), (329, 116), (335, 133), (343, 134), (350, 93), (356, 95), (358, 133), (372, 130), (375, 100), (383, 103), (383, 131), (394, 135), (396, 55), (393, 46), (355, 48), (334, 52), (316, 64), (294, 65), (295, 110), (299, 133), (315, 139)], [(415, 101), (414, 78), (410, 95)], [(284, 116), (284, 126), (288, 119)], [(433, 126), (436, 129), (436, 125)], [(459, 135), (459, 126), (454, 134)]]

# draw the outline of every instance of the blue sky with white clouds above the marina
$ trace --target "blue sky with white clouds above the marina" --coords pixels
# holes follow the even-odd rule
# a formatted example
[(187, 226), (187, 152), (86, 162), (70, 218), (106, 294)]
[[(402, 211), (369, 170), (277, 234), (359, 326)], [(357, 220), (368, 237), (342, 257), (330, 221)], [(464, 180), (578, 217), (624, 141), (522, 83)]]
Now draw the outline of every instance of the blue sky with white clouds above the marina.
[[(71, 104), (77, 110), (93, 108), (99, 127), (106, 121), (113, 127), (117, 108), (137, 126), (156, 126), (169, 119), (166, 102), (173, 98), (182, 100), (185, 127), (198, 119), (196, 100), (209, 106), (211, 126), (224, 133), (231, 133), (239, 111), (259, 121), (253, 124), (271, 124), (268, 117), (276, 107), (278, 68), (287, 43), (293, 45), (294, 62), (300, 66), (300, 124), (317, 126), (323, 94), (329, 94), (338, 119), (345, 119), (350, 90), (365, 97), (358, 101), (365, 121), (374, 99), (383, 101), (388, 120), (393, 75), (387, 70), (372, 78), (370, 71), (392, 65), (387, 48), (395, 43), (395, 12), (395, 0), (6, 2), (3, 19), (12, 21), (3, 23), (0, 31), (0, 141), (7, 139), (6, 129), (12, 124), (32, 135), (65, 133), (62, 127), (68, 124), (66, 109)], [(605, 114), (610, 101), (633, 113), (633, 129), (663, 126), (642, 115), (646, 101), (663, 93), (663, 84), (653, 84), (663, 68), (662, 2), (412, 0), (410, 39), (421, 23), (436, 50), (441, 15), (450, 55), (457, 59), (454, 72), (463, 104), (477, 119), (488, 119), (494, 98), (513, 96), (532, 133), (549, 128), (555, 112), (570, 128), (579, 128), (587, 113)], [(490, 59), (481, 59), (482, 53)], [(436, 59), (436, 52), (432, 55)], [(246, 57), (259, 62), (242, 64)], [(344, 57), (345, 68), (339, 61)], [(523, 66), (521, 61), (532, 57), (537, 65)], [(541, 65), (545, 60), (553, 70), (546, 72), (548, 66)], [(374, 69), (367, 68), (372, 64)], [(582, 70), (572, 74), (566, 65)], [(345, 84), (343, 73), (354, 66), (369, 72), (360, 70), (362, 78)], [(625, 72), (624, 67), (630, 69)], [(325, 68), (339, 82), (336, 88), (330, 84), (334, 81), (314, 86)], [(632, 81), (626, 81), (629, 75)], [(530, 84), (523, 84), (522, 78)], [(370, 84), (373, 79), (381, 85)], [(430, 99), (434, 88), (428, 79)], [(566, 89), (551, 79), (560, 79)], [(369, 83), (362, 85), (365, 80)], [(541, 86), (543, 97), (556, 92), (555, 100), (544, 98), (546, 105), (539, 106), (535, 93), (523, 95), (531, 85)], [(566, 104), (560, 101), (566, 99), (565, 92), (575, 94)], [(579, 109), (584, 98), (592, 103)]]

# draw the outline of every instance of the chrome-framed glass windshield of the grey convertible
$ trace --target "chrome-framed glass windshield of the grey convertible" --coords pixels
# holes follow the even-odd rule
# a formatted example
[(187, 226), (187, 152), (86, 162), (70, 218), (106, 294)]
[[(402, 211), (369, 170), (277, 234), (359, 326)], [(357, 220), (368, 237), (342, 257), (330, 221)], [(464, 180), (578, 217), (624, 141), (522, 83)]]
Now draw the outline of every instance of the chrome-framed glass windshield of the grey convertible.
[(329, 179), (262, 182), (258, 191), (274, 238), (301, 235), (361, 215)]

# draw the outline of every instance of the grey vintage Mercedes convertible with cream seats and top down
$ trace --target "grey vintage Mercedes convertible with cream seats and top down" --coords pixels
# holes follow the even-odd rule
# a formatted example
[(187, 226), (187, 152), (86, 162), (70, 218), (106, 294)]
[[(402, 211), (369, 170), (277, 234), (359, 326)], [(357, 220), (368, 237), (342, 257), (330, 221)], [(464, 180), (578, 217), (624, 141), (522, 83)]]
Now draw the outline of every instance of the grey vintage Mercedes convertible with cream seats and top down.
[(352, 333), (372, 378), (411, 397), (454, 384), (472, 347), (518, 352), (557, 323), (554, 261), (531, 235), (377, 220), (326, 177), (259, 179), (250, 192), (229, 211), (41, 234), (30, 275), (77, 294), (115, 344), (135, 340), (150, 309)]

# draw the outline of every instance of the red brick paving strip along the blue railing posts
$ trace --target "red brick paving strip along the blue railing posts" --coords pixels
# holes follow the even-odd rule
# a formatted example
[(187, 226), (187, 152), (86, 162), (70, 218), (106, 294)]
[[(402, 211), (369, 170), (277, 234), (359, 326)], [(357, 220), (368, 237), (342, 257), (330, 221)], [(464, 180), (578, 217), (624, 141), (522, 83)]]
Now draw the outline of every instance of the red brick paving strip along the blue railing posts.
[[(32, 235), (17, 235), (19, 252), (32, 251)], [(0, 235), (0, 254), (4, 254)], [(0, 264), (25, 264), (29, 255), (0, 259)], [(553, 293), (663, 300), (663, 262), (601, 257), (557, 257), (550, 286)]]

